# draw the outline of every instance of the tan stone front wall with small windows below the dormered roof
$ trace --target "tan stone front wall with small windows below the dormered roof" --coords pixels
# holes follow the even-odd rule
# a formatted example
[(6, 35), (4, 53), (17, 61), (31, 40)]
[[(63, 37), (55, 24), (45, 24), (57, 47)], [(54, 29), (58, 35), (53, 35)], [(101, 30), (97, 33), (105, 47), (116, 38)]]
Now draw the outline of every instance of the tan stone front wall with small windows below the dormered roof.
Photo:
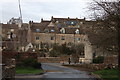
[[(79, 34), (55, 34), (55, 33), (32, 33), (32, 43), (59, 43), (59, 44), (64, 44), (64, 43), (81, 43), (84, 42), (84, 35), (79, 35)], [(36, 40), (35, 37), (40, 37), (39, 40)], [(61, 40), (61, 37), (64, 36), (65, 40)], [(51, 37), (54, 37), (53, 40), (51, 40)], [(75, 38), (80, 38), (80, 41), (76, 40)]]

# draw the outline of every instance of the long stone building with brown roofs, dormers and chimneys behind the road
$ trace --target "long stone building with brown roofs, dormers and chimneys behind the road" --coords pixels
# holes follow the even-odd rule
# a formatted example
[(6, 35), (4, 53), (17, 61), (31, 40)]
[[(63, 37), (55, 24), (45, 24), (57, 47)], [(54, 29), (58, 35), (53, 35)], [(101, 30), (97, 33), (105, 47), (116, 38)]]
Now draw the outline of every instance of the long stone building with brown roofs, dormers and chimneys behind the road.
[[(85, 63), (92, 62), (92, 45), (87, 34), (83, 31), (89, 22), (78, 18), (54, 18), (51, 20), (41, 19), (40, 23), (29, 21), (19, 24), (2, 24), (2, 49), (15, 51), (36, 51), (47, 45), (49, 49), (53, 44), (84, 44)], [(11, 46), (12, 45), (12, 46)]]

